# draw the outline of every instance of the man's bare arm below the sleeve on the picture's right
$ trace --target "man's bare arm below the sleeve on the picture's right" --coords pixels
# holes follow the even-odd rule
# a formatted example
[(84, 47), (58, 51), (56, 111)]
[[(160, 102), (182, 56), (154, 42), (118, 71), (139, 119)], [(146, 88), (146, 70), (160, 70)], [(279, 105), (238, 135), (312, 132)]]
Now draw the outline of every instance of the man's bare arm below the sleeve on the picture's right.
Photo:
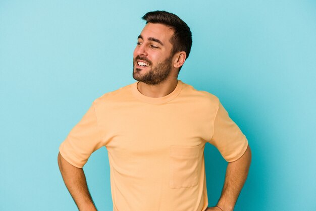
[(224, 211), (234, 209), (239, 193), (246, 181), (251, 162), (251, 150), (248, 146), (245, 153), (235, 162), (228, 163), (224, 187), (218, 206)]

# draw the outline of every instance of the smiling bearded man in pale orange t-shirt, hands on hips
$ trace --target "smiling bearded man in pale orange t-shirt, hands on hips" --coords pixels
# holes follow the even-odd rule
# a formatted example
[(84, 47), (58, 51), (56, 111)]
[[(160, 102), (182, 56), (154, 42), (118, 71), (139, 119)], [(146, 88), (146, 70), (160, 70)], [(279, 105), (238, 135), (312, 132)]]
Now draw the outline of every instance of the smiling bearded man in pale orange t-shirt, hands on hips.
[[(65, 184), (80, 210), (96, 210), (82, 167), (106, 146), (114, 210), (233, 210), (250, 166), (247, 139), (216, 96), (177, 80), (190, 28), (165, 11), (143, 19), (133, 57), (138, 82), (97, 98), (61, 144)], [(206, 142), (229, 162), (214, 207), (207, 207)]]

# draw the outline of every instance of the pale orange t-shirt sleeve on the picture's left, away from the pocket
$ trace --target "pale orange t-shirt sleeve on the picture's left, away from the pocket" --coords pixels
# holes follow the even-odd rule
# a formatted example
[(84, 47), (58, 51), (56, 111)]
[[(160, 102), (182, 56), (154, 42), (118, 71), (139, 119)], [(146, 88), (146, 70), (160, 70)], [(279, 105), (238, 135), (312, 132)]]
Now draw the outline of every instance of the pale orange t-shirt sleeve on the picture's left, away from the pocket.
[(82, 168), (92, 152), (101, 146), (103, 146), (103, 143), (98, 130), (94, 104), (92, 103), (87, 113), (60, 145), (59, 151), (70, 164)]

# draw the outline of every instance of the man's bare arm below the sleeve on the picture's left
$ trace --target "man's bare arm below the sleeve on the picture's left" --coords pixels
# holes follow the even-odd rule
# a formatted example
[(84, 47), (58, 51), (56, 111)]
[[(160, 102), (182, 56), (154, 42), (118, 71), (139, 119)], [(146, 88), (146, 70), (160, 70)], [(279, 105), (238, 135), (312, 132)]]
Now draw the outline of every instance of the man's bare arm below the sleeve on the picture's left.
[(61, 153), (58, 154), (58, 166), (64, 182), (79, 210), (96, 211), (88, 190), (83, 169), (74, 167), (68, 163)]

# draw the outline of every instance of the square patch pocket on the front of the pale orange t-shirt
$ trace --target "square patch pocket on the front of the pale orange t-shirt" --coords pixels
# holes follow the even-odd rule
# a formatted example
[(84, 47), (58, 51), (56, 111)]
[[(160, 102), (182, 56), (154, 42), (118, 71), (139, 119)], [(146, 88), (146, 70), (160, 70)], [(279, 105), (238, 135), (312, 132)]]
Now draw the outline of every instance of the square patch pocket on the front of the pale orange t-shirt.
[(170, 188), (193, 187), (198, 182), (198, 146), (170, 146)]

